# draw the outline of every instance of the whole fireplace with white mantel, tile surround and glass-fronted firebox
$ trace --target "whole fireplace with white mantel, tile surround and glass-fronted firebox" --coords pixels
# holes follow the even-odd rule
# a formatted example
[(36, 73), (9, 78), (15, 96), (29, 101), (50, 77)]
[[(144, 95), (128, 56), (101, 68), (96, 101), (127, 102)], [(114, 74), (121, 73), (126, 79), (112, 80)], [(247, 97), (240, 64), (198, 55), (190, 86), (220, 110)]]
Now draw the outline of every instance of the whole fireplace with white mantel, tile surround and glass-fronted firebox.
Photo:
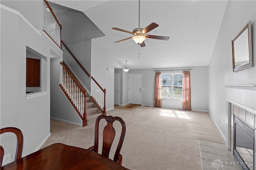
[(256, 170), (256, 85), (226, 87), (227, 147), (244, 170)]

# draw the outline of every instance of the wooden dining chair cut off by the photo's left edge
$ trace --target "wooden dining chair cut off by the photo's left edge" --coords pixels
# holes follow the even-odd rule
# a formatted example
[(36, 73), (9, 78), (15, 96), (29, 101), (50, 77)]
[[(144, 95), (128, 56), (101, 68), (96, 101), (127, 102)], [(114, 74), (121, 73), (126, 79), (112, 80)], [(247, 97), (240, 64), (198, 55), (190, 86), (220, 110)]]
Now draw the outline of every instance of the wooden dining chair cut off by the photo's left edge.
[[(16, 135), (17, 146), (16, 146), (16, 153), (15, 153), (14, 160), (20, 159), (21, 155), (22, 155), (22, 149), (23, 149), (23, 135), (22, 135), (22, 132), (20, 131), (20, 129), (18, 129), (16, 127), (5, 127), (5, 128), (0, 129), (0, 134), (6, 133), (6, 132), (14, 133)], [(4, 148), (2, 146), (0, 146), (0, 151), (1, 151), (0, 152), (0, 156), (1, 156), (0, 166), (2, 166), (2, 161), (3, 161), (3, 158), (4, 158)]]

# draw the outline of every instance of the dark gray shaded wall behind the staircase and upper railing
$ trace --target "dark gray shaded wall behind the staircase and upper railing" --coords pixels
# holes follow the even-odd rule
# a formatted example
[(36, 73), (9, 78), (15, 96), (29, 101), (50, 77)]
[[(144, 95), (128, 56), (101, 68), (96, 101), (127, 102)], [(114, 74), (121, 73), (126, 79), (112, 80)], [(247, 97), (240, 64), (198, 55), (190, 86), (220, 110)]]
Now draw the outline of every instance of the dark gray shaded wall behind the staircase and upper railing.
[[(62, 25), (61, 38), (85, 70), (91, 74), (91, 39), (104, 36), (104, 33), (83, 13), (49, 2), (54, 14)], [(91, 78), (66, 51), (63, 59), (74, 71), (90, 94)], [(93, 74), (91, 74), (93, 76)]]

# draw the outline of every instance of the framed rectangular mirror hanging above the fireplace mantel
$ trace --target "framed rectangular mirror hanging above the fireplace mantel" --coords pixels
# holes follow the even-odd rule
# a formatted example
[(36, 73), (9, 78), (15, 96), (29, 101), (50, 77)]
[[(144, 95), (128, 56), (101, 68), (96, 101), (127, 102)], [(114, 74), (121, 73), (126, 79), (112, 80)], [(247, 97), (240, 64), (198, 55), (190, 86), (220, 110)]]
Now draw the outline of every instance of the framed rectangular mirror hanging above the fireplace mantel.
[(233, 72), (252, 67), (251, 21), (232, 40)]

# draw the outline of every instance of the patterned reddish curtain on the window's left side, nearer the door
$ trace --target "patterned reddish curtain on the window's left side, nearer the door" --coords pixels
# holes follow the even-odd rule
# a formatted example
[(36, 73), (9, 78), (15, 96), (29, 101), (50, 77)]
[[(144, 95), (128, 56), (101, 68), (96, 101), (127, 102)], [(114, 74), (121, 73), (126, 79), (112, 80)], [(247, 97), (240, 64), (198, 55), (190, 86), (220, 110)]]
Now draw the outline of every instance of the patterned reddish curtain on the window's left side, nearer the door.
[(156, 76), (155, 76), (155, 98), (154, 98), (154, 107), (162, 107), (161, 73), (156, 73)]

